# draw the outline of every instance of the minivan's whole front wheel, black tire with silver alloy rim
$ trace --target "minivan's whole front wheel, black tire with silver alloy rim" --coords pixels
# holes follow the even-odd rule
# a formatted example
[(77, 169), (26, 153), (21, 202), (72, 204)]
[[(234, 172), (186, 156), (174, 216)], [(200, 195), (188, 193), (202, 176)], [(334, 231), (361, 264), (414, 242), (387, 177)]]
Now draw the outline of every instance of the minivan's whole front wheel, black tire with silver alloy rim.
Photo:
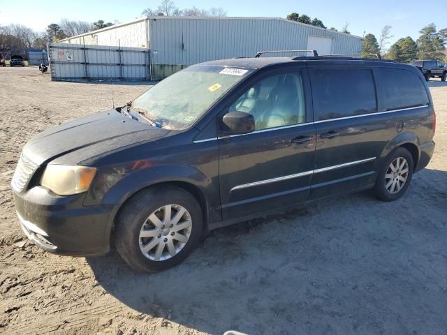
[[(176, 214), (186, 209), (174, 227), (163, 225), (167, 206), (173, 222)], [(178, 230), (188, 224), (188, 228)], [(177, 225), (178, 228), (175, 227)], [(200, 241), (202, 230), (202, 209), (191, 193), (175, 186), (154, 186), (138, 192), (124, 204), (115, 226), (115, 246), (131, 268), (153, 273), (182, 262)], [(151, 236), (141, 237), (143, 231)], [(176, 237), (186, 241), (179, 241)], [(161, 255), (156, 260), (159, 248)]]

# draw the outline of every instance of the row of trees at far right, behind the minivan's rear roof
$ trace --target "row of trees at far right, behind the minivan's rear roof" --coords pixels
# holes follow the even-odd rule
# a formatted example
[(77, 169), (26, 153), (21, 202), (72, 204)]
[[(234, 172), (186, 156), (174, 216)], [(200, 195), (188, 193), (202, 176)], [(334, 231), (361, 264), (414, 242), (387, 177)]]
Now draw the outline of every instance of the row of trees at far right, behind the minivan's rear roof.
[(386, 49), (391, 26), (382, 29), (379, 41), (374, 34), (367, 34), (363, 39), (362, 53), (382, 54), (386, 59), (394, 59), (402, 63), (409, 63), (415, 59), (436, 59), (447, 62), (445, 54), (447, 45), (447, 28), (437, 31), (434, 23), (423, 27), (419, 31), (419, 38), (415, 41), (410, 36), (400, 38)]

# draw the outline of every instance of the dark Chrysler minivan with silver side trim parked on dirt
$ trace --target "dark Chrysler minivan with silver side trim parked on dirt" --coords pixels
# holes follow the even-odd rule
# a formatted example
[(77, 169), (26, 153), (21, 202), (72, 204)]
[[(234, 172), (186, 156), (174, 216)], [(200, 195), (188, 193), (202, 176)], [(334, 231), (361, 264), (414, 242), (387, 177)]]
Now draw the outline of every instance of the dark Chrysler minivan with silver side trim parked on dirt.
[(223, 225), (367, 188), (400, 198), (430, 161), (435, 123), (414, 66), (209, 61), (30, 140), (15, 207), (46, 251), (101, 255), (115, 245), (133, 269), (157, 271)]

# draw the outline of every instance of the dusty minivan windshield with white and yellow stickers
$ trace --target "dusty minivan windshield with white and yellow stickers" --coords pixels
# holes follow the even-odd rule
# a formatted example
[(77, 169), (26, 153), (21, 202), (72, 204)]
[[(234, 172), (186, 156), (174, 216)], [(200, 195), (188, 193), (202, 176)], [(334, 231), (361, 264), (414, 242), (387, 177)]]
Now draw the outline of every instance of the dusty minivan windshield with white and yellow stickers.
[(136, 98), (131, 109), (160, 128), (183, 130), (240, 82), (252, 68), (189, 66)]

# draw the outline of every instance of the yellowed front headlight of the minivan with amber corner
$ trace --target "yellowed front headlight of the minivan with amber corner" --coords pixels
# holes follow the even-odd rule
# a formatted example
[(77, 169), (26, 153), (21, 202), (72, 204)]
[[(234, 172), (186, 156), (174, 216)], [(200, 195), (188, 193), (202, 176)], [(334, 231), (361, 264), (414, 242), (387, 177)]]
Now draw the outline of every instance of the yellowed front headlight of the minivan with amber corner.
[(47, 165), (41, 178), (41, 185), (58, 195), (72, 195), (85, 192), (95, 177), (96, 168), (79, 165)]

